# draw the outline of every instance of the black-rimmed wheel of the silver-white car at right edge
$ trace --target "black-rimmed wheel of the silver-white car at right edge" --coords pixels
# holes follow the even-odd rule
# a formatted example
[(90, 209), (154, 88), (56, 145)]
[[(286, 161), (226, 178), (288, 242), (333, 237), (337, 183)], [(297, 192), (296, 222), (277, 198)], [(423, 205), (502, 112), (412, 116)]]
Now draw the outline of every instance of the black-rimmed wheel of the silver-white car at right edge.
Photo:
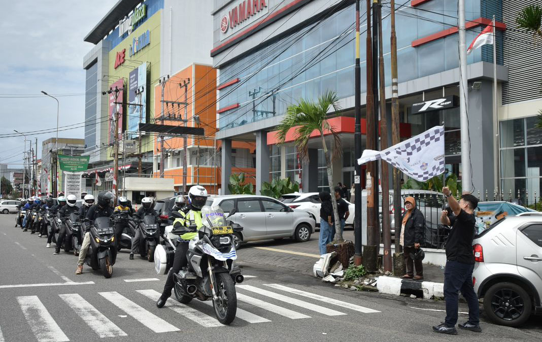
[(487, 290), (483, 308), (496, 324), (515, 327), (524, 324), (531, 316), (532, 301), (521, 286), (500, 282)]

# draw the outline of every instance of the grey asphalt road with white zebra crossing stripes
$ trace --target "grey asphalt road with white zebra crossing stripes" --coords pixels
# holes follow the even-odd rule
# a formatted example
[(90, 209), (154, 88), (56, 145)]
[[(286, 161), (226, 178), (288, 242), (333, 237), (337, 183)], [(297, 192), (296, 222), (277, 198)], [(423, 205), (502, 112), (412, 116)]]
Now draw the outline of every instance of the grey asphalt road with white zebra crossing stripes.
[[(315, 253), (305, 249), (314, 241), (296, 244), (286, 239), (248, 244), (238, 251), (243, 274), (252, 278), (237, 285), (237, 318), (222, 326), (210, 302), (193, 300), (183, 306), (170, 299), (158, 309), (152, 298), (162, 291), (165, 276), (157, 275), (146, 260), (128, 260), (122, 251), (113, 278), (105, 279), (87, 266), (75, 275), (74, 255), (53, 255), (53, 248), (44, 248), (45, 238), (23, 233), (13, 222), (13, 215), (0, 215), (0, 342), (542, 339), (539, 318), (521, 329), (482, 321), (481, 334), (436, 334), (431, 325), (444, 318), (442, 302), (351, 292), (282, 264), (263, 262), (277, 254), (291, 263), (311, 260), (284, 251)], [(464, 305), (460, 310), (466, 311)], [(460, 314), (460, 320), (466, 315)]]

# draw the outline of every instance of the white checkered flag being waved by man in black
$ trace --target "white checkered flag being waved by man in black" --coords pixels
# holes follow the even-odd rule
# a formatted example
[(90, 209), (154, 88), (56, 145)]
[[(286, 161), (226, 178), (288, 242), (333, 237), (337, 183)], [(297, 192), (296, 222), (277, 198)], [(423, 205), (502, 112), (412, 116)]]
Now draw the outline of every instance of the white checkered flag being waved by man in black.
[(358, 164), (383, 159), (411, 178), (425, 182), (444, 173), (444, 126), (436, 126), (382, 152), (365, 150)]

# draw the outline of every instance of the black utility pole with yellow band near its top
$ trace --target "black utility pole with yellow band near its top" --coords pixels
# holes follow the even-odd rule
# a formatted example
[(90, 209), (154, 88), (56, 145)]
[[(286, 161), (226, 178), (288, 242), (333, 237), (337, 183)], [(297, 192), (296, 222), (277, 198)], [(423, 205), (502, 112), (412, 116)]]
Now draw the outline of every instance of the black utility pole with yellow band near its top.
[(354, 153), (356, 160), (354, 170), (354, 264), (359, 266), (363, 261), (363, 236), (362, 236), (362, 166), (357, 160), (362, 156), (362, 81), (359, 66), (359, 0), (356, 0), (356, 64), (354, 66), (354, 86), (356, 87), (354, 108), (356, 123), (354, 126)]

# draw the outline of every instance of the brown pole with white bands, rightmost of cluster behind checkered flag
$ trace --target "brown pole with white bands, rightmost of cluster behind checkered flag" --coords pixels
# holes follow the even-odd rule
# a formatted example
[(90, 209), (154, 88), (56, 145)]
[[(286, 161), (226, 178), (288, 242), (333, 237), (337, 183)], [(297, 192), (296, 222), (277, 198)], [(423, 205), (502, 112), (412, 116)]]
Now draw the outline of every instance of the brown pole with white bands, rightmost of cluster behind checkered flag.
[[(399, 80), (397, 70), (397, 35), (395, 33), (395, 0), (390, 0), (391, 6), (391, 143), (399, 144)], [(399, 243), (401, 234), (401, 175), (399, 169), (393, 167), (393, 220), (395, 228), (395, 254), (393, 255), (393, 273), (403, 275), (403, 248)]]

